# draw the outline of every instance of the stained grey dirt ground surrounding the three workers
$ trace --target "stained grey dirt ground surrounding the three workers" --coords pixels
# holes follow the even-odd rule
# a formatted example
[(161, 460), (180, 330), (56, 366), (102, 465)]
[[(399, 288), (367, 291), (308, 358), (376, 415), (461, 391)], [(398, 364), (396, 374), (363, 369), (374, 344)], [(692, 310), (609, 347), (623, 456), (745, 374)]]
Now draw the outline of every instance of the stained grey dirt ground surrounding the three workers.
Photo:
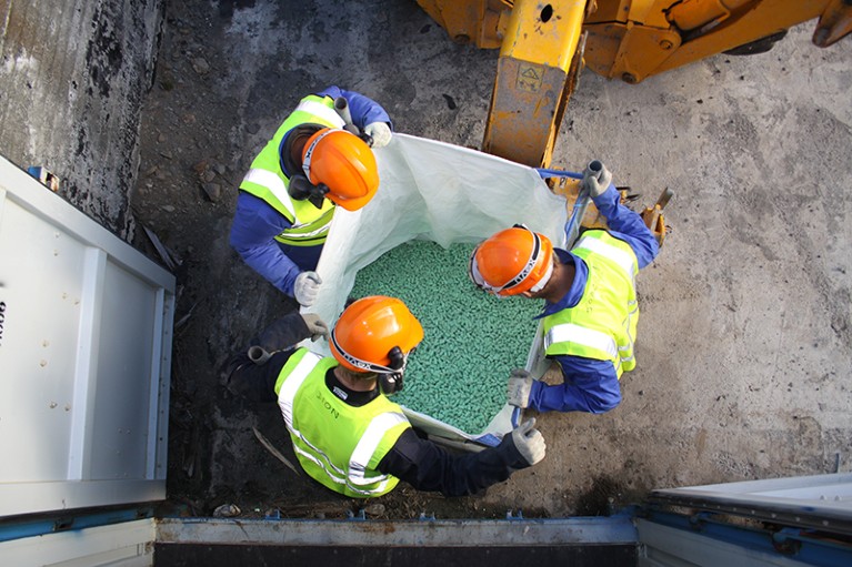
[(483, 495), (400, 486), (362, 503), (287, 468), (252, 432), (294, 462), (277, 406), (221, 387), (222, 361), (294, 308), (228, 244), (235, 188), (328, 84), (381, 102), (399, 132), (479, 148), (498, 53), (454, 44), (413, 0), (167, 1), (132, 207), (181, 263), (170, 500), (192, 515), (562, 517), (654, 488), (850, 470), (852, 43), (821, 50), (812, 31), (638, 85), (582, 74), (553, 165), (601, 159), (644, 204), (675, 192), (672, 233), (639, 277), (624, 401), (538, 416), (547, 458)]

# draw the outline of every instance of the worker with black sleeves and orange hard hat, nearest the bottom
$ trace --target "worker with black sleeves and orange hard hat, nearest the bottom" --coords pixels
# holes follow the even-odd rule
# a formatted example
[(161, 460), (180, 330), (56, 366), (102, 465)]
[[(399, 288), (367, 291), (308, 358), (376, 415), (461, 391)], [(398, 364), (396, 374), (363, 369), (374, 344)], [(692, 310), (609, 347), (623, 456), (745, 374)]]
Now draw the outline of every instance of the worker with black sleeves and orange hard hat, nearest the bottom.
[[(329, 338), (332, 356), (293, 347)], [(544, 458), (530, 419), (495, 447), (453, 455), (414, 432), (388, 396), (402, 389), (408, 357), (423, 327), (395, 297), (351, 303), (334, 328), (314, 314), (291, 313), (270, 325), (225, 367), (229, 389), (278, 399), (299, 464), (328, 488), (355, 498), (381, 496), (400, 480), (463, 496), (505, 480)]]

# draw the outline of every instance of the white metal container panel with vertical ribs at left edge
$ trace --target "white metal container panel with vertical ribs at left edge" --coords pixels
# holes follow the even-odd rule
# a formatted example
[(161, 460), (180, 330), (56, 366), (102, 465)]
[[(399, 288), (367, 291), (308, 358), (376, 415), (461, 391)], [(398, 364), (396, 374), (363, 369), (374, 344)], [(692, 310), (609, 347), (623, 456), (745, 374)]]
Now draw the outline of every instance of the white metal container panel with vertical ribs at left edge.
[(166, 497), (174, 276), (0, 158), (0, 516)]

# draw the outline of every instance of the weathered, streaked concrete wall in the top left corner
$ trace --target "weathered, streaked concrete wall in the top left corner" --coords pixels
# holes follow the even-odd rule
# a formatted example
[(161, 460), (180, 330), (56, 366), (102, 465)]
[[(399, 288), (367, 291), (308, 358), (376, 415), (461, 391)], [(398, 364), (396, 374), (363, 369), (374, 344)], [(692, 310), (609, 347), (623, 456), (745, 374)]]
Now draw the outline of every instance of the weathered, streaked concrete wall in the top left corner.
[(0, 0), (0, 153), (124, 239), (164, 0)]

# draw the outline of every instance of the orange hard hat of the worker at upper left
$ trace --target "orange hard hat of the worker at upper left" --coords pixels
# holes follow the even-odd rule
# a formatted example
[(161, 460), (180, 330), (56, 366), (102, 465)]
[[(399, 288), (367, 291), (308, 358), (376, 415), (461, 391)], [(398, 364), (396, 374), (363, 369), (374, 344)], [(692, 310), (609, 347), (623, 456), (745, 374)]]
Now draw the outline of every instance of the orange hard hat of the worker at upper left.
[(302, 150), (302, 170), (314, 185), (327, 185), (325, 196), (348, 211), (364, 206), (379, 189), (373, 151), (345, 130), (323, 128), (309, 138)]

